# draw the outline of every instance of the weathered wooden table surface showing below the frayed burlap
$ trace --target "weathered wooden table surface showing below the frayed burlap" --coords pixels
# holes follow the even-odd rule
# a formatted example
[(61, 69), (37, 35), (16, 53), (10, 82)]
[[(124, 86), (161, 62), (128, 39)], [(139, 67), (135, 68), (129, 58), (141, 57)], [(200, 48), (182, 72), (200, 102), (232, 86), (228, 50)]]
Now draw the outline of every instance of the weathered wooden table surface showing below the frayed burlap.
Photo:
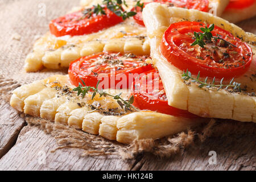
[[(47, 16), (46, 22), (51, 18)], [(256, 18), (250, 22), (255, 27)], [(256, 28), (246, 22), (239, 25), (256, 33)], [(42, 32), (46, 30), (47, 23), (40, 28)], [(21, 63), (27, 52), (21, 53)], [(4, 59), (1, 58), (1, 64)], [(251, 124), (251, 127), (256, 126)], [(149, 154), (134, 160), (123, 160), (118, 155), (82, 157), (81, 150), (67, 148), (51, 152), (57, 147), (55, 139), (38, 127), (27, 125), (16, 110), (0, 99), (0, 170), (255, 170), (255, 141), (253, 134), (209, 138), (170, 159)], [(216, 151), (216, 164), (209, 164), (210, 151)]]

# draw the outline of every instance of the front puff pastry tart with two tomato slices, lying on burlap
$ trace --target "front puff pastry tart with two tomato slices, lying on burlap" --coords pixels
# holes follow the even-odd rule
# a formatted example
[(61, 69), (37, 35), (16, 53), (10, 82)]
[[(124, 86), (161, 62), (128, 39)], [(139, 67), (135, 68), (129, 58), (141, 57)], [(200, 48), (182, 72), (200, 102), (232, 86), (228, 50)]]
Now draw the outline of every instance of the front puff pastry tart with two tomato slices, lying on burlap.
[[(168, 105), (158, 71), (150, 62), (148, 56), (131, 53), (81, 57), (71, 63), (69, 75), (55, 75), (15, 89), (10, 105), (34, 117), (121, 143), (161, 138), (205, 121)], [(111, 79), (131, 74), (141, 77)], [(100, 75), (104, 75), (102, 81), (98, 81)], [(148, 89), (153, 83), (158, 89)]]

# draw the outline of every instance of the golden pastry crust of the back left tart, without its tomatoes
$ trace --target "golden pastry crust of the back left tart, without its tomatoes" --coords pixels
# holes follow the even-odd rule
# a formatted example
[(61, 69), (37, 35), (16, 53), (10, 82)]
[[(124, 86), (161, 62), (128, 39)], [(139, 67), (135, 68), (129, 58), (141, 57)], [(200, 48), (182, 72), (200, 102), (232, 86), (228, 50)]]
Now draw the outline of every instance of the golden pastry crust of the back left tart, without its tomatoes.
[[(91, 7), (101, 2), (84, 1), (82, 7)], [(131, 9), (134, 5), (134, 1), (131, 0), (127, 3), (129, 6), (126, 9)], [(89, 35), (56, 37), (47, 32), (35, 42), (33, 52), (26, 57), (24, 68), (27, 72), (37, 72), (42, 68), (65, 68), (79, 57), (102, 51), (149, 55), (150, 47), (146, 38), (146, 28), (130, 18)]]

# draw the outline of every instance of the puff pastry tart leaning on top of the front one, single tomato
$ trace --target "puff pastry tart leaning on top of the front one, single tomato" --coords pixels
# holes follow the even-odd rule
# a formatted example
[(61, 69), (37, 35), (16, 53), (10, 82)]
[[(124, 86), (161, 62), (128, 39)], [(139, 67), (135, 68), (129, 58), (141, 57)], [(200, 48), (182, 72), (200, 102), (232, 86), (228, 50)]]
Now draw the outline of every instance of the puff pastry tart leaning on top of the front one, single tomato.
[(201, 117), (256, 122), (256, 36), (197, 10), (143, 10), (168, 104)]

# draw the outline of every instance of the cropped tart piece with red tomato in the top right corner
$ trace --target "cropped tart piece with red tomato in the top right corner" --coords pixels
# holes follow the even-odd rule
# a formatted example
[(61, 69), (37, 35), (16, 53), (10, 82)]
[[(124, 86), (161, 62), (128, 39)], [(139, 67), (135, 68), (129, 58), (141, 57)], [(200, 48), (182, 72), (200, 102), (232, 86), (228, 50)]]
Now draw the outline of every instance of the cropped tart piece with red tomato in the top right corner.
[(222, 18), (229, 22), (236, 23), (256, 15), (255, 0), (230, 0)]

